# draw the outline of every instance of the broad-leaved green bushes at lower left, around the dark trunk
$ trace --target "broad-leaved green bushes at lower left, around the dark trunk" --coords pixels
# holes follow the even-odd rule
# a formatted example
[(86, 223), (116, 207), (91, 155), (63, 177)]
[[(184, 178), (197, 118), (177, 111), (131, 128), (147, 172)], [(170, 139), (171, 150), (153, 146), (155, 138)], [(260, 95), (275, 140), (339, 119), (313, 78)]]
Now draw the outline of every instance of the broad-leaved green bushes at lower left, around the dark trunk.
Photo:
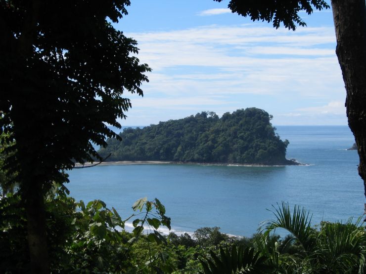
[[(53, 185), (45, 201), (50, 271), (135, 273), (144, 267), (146, 261), (137, 262), (132, 257), (136, 239), (143, 237), (150, 244), (160, 245), (165, 238), (157, 230), (161, 226), (170, 228), (170, 218), (158, 199), (143, 198), (136, 204), (139, 213), (127, 220), (143, 214), (147, 222), (154, 218), (154, 226), (129, 234), (122, 231), (127, 220), (123, 220), (114, 208), (109, 209), (101, 200), (77, 202), (68, 196), (65, 187)], [(140, 221), (135, 219), (133, 223)], [(0, 273), (29, 273), (26, 226), (21, 196), (15, 193), (0, 199)]]

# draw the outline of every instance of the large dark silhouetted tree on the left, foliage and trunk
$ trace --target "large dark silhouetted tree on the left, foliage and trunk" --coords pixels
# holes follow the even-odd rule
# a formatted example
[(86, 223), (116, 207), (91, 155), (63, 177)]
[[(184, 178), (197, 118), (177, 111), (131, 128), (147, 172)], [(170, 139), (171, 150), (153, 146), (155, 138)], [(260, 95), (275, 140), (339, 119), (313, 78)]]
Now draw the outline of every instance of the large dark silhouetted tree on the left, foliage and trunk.
[[(101, 159), (150, 71), (117, 31), (129, 0), (0, 0), (3, 168), (26, 203), (33, 273), (49, 273), (44, 195), (75, 162)], [(14, 142), (15, 141), (15, 142)]]

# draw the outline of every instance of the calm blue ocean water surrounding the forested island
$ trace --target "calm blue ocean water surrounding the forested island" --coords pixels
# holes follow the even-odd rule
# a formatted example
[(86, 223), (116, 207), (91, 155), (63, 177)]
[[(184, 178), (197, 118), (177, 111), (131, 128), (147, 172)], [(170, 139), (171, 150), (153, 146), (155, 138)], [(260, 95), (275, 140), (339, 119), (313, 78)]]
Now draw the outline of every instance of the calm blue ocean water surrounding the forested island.
[(281, 201), (305, 206), (314, 225), (363, 214), (363, 182), (357, 152), (346, 150), (354, 143), (347, 126), (277, 126), (276, 132), (290, 141), (287, 158), (308, 165), (105, 165), (69, 171), (67, 187), (77, 200), (101, 199), (122, 217), (133, 213), (138, 198), (157, 197), (178, 232), (218, 226), (251, 236)]

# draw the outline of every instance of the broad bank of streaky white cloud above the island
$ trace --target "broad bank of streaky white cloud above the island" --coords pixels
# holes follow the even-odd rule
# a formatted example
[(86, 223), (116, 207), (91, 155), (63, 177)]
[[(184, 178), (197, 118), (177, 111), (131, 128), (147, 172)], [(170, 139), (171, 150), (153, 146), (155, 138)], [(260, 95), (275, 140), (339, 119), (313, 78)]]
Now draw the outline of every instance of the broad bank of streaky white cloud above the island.
[[(292, 32), (253, 26), (128, 34), (139, 43), (140, 61), (153, 69), (150, 82), (142, 86), (145, 97), (133, 100), (130, 117), (138, 117), (136, 109), (148, 109), (147, 116), (161, 116), (156, 123), (166, 120), (168, 114), (162, 113), (169, 111), (183, 117), (243, 107), (265, 108), (287, 124), (305, 117), (317, 119), (316, 114), (344, 115), (340, 104), (344, 84), (333, 28)], [(173, 113), (174, 109), (179, 112)]]

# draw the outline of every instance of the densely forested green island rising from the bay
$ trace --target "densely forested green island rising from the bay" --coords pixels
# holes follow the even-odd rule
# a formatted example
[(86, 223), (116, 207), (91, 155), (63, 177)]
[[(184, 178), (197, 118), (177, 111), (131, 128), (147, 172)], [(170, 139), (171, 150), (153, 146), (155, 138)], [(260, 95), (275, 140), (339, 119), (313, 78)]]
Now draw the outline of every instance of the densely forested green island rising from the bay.
[(108, 139), (99, 151), (109, 161), (294, 164), (287, 160), (288, 140), (274, 132), (272, 116), (257, 108), (225, 113), (202, 112), (143, 128), (126, 128), (122, 141)]

